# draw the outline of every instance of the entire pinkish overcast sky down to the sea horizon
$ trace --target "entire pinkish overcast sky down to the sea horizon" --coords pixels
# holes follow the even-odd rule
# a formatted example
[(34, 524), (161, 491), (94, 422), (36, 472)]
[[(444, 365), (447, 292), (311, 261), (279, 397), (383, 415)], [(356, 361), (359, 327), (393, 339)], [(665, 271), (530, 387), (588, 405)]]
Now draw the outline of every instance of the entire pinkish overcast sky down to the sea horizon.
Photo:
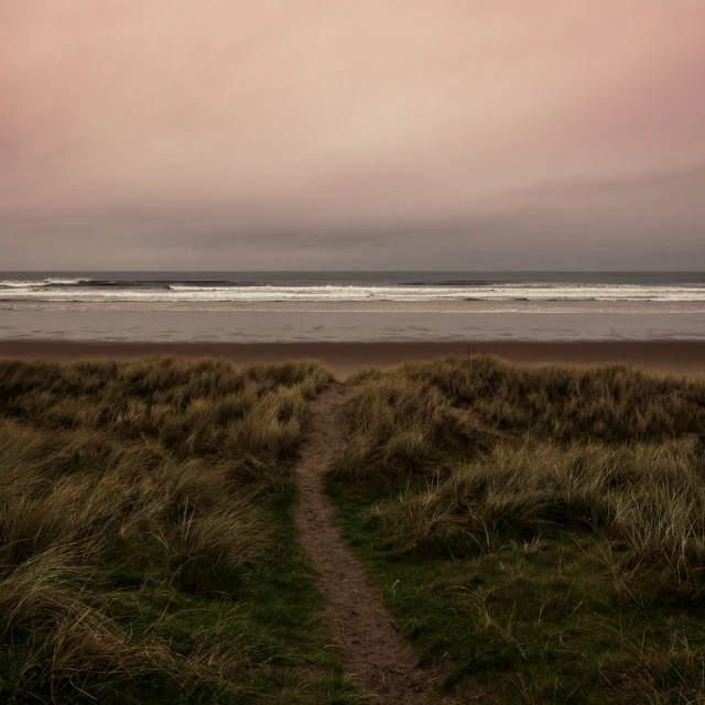
[(0, 0), (0, 269), (705, 269), (705, 2)]

